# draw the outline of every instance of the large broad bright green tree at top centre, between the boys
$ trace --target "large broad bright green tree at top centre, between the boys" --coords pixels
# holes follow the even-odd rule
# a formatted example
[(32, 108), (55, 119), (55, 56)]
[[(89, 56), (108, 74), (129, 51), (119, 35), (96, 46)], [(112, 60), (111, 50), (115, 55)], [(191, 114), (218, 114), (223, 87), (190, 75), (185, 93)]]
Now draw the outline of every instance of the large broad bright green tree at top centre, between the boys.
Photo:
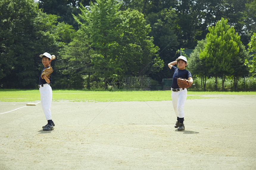
[(120, 6), (118, 1), (97, 0), (81, 8), (80, 18), (75, 17), (79, 30), (88, 35), (90, 46), (101, 56), (94, 62), (95, 67), (105, 78), (158, 71), (163, 66), (156, 54), (158, 47), (148, 36), (150, 26), (143, 14), (130, 9), (121, 11)]

